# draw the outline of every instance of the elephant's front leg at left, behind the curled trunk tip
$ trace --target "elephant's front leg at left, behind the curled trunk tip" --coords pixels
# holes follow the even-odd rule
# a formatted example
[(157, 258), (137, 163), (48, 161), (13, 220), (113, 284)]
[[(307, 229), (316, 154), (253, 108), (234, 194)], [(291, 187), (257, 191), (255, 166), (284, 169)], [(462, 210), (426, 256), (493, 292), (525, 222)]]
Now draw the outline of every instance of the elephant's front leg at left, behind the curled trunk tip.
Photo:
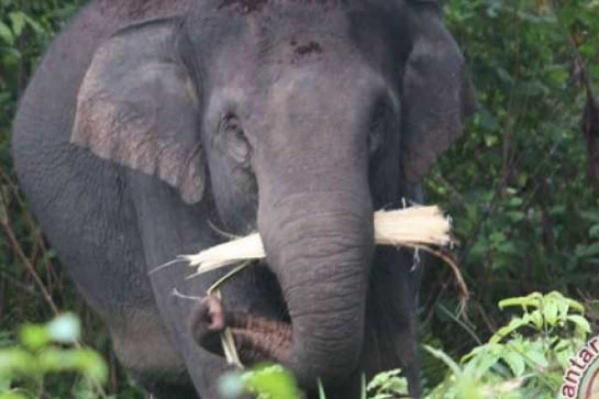
[[(214, 245), (220, 237), (208, 223), (208, 218), (216, 221), (208, 205), (186, 206), (170, 187), (136, 172), (132, 172), (131, 187), (149, 271), (177, 255), (196, 253)], [(218, 379), (231, 367), (224, 358), (196, 343), (188, 324), (196, 300), (185, 296), (204, 297), (208, 288), (228, 270), (189, 278), (194, 272), (186, 264), (176, 263), (150, 272), (149, 278), (168, 338), (180, 354), (196, 391), (202, 398), (217, 399)], [(277, 300), (280, 296), (277, 290), (274, 276), (267, 269), (251, 267), (226, 282), (222, 297), (228, 309), (277, 319), (285, 315)]]

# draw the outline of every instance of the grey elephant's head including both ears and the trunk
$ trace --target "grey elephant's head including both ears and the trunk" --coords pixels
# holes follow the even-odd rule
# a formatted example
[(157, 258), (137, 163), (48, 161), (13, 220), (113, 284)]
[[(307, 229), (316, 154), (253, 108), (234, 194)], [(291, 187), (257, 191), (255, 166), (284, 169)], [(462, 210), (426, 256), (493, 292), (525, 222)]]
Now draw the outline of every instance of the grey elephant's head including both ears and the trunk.
[(236, 338), (309, 384), (356, 368), (373, 209), (425, 175), (472, 105), (434, 2), (205, 1), (96, 52), (72, 142), (258, 230), (291, 323)]

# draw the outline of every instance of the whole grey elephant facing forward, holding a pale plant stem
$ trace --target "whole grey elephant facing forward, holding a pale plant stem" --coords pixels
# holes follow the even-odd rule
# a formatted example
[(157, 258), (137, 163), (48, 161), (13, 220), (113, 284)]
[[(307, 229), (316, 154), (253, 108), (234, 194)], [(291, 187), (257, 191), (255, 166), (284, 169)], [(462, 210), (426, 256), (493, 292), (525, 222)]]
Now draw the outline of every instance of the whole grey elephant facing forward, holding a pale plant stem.
[[(420, 395), (407, 249), (373, 211), (421, 181), (474, 109), (464, 55), (423, 0), (92, 0), (20, 99), (14, 165), (59, 260), (154, 398), (217, 398), (241, 361), (311, 397), (401, 367)], [(267, 257), (156, 267), (259, 232)], [(179, 293), (176, 295), (174, 293)], [(189, 299), (192, 297), (192, 299)], [(193, 297), (200, 299), (194, 300)]]

